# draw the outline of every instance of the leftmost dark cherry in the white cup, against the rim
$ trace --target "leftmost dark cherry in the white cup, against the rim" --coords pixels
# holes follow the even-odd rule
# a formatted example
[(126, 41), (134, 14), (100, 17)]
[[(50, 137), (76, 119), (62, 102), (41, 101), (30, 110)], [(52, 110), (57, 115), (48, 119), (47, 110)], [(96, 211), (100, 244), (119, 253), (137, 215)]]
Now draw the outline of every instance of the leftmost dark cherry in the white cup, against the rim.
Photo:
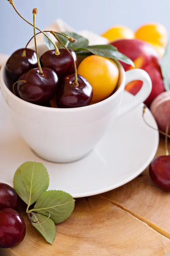
[(20, 76), (28, 70), (38, 67), (36, 52), (32, 49), (26, 49), (26, 56), (23, 57), (23, 50), (14, 52), (6, 62), (6, 73), (14, 81), (18, 81)]

